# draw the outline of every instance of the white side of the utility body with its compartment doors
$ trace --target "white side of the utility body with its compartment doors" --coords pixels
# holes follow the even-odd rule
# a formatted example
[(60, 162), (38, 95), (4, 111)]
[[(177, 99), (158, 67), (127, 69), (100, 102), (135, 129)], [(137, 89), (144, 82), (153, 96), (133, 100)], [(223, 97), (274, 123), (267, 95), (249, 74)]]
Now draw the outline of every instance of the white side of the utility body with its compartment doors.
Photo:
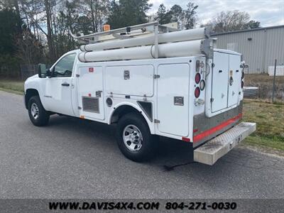
[[(111, 116), (115, 109), (120, 106), (129, 105), (141, 111), (153, 134), (177, 139), (181, 139), (182, 136), (192, 136), (192, 130), (190, 130), (192, 129), (192, 124), (190, 125), (189, 117), (193, 114), (193, 108), (190, 108), (190, 110), (187, 109), (190, 104), (190, 97), (188, 95), (193, 95), (189, 85), (190, 75), (195, 75), (195, 72), (190, 70), (189, 63), (192, 61), (192, 64), (195, 64), (197, 58), (205, 62), (204, 57), (88, 63), (78, 61), (74, 72), (75, 76), (80, 75), (80, 77), (75, 77), (79, 81), (77, 89), (80, 91), (77, 97), (79, 100), (79, 106), (77, 107), (82, 107), (82, 96), (89, 97), (89, 94), (91, 94), (91, 97), (96, 97), (95, 92), (102, 90), (102, 97), (99, 98), (99, 107), (104, 106), (104, 111), (100, 108), (99, 114), (104, 113), (105, 115), (101, 116), (95, 112), (76, 109), (77, 107), (74, 107), (74, 111), (77, 111), (77, 116), (79, 117), (84, 116), (85, 119), (110, 124)], [(98, 67), (102, 67), (102, 76), (94, 75), (95, 72), (100, 72), (101, 68), (98, 69)], [(94, 71), (89, 72), (89, 68), (92, 68)], [(85, 70), (84, 75), (80, 71), (82, 69)], [(126, 70), (130, 72), (130, 78), (124, 80), (124, 71)], [(154, 75), (160, 75), (160, 78), (154, 79)], [(98, 79), (101, 76), (101, 80), (104, 82), (103, 89), (100, 89), (100, 83), (96, 84), (95, 82), (97, 81), (94, 81), (94, 77), (92, 76), (97, 76)], [(166, 80), (166, 84), (163, 83), (163, 80)], [(158, 82), (161, 82), (161, 84)], [(170, 84), (173, 87), (170, 87)], [(180, 86), (177, 87), (176, 84)], [(76, 90), (76, 87), (74, 90)], [(168, 93), (170, 90), (173, 92)], [(147, 102), (153, 103), (153, 120), (163, 119), (163, 121), (160, 121), (160, 124), (150, 121), (137, 103), (137, 101), (145, 99), (144, 94), (146, 94)], [(165, 100), (159, 99), (164, 94), (168, 97)], [(126, 98), (126, 96), (130, 98)], [(175, 96), (185, 97), (185, 106), (174, 105)], [(105, 100), (108, 97), (111, 97), (113, 100), (112, 107), (107, 107), (105, 104)], [(165, 104), (164, 107), (163, 104)], [(158, 106), (160, 106), (159, 109)], [(180, 111), (181, 108), (182, 111)], [(169, 116), (169, 111), (172, 111), (171, 117)], [(177, 111), (180, 111), (179, 116), (175, 114)], [(160, 113), (160, 116), (158, 116), (158, 113)], [(161, 114), (166, 114), (167, 117), (161, 116)], [(102, 119), (103, 117), (104, 119)], [(176, 123), (175, 128), (173, 128), (173, 122)]]

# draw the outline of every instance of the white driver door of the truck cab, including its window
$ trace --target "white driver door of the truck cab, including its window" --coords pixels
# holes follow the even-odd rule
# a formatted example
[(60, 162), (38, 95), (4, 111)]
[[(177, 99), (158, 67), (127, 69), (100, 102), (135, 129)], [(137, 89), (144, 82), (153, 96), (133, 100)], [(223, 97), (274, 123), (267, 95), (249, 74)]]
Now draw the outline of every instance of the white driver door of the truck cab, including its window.
[(72, 72), (76, 53), (63, 56), (50, 70), (45, 84), (45, 109), (59, 114), (74, 115), (72, 110)]

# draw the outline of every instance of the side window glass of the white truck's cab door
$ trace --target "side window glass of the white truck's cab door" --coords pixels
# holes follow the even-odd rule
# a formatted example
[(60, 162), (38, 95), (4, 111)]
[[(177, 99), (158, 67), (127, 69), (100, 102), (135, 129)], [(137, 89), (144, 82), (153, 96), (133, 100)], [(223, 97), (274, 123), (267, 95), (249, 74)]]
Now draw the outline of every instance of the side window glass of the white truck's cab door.
[(76, 53), (66, 55), (53, 68), (53, 77), (71, 77)]

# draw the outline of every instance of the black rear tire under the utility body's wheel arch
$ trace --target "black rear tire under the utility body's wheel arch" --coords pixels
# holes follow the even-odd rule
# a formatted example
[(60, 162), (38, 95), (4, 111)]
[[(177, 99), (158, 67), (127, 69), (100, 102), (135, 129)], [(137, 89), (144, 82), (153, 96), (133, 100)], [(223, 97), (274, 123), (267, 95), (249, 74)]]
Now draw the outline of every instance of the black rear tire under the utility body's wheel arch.
[[(136, 127), (143, 138), (141, 141), (141, 148), (136, 151), (131, 151), (130, 148), (126, 146), (126, 143), (131, 143), (131, 141), (124, 143), (124, 129), (126, 129), (126, 127), (128, 126), (130, 126), (130, 128), (133, 126), (134, 128)], [(131, 134), (135, 134), (136, 132), (133, 130), (133, 133)], [(141, 114), (129, 113), (119, 119), (119, 123), (116, 129), (116, 141), (119, 145), (121, 153), (123, 153), (126, 158), (129, 158), (130, 160), (136, 162), (142, 162), (151, 160), (151, 158), (153, 158), (156, 150), (156, 144), (158, 142), (158, 137), (151, 135), (148, 124), (146, 123), (143, 116), (141, 116)]]

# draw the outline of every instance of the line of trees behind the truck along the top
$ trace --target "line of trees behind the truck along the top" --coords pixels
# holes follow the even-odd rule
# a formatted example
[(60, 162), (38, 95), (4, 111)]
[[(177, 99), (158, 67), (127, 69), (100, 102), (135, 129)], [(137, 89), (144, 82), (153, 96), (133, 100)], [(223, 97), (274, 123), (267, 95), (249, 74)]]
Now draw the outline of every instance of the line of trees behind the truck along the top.
[[(60, 55), (77, 48), (72, 33), (102, 31), (105, 23), (112, 29), (149, 21), (160, 24), (178, 22), (178, 28), (195, 28), (198, 6), (161, 4), (155, 14), (148, 0), (0, 0), (0, 64), (53, 63)], [(224, 11), (204, 26), (214, 32), (257, 28), (249, 14)]]

